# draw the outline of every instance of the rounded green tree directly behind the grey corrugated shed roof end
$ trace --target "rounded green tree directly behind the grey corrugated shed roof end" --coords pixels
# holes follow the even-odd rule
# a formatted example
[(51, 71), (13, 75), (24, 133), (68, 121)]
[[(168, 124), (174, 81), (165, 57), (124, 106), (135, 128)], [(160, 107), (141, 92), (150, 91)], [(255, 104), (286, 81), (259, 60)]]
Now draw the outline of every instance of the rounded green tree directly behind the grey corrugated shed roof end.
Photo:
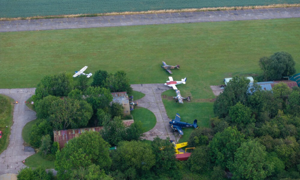
[(126, 76), (125, 71), (118, 71), (114, 75), (110, 74), (106, 78), (105, 87), (110, 89), (111, 92), (123, 92), (131, 94), (132, 88), (129, 84), (129, 79)]

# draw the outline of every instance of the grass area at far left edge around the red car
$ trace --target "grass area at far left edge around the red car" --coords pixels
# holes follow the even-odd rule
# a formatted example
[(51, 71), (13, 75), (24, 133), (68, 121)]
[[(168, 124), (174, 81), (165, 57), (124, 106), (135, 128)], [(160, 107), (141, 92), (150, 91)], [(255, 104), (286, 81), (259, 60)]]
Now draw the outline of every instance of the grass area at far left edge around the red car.
[[(2, 131), (2, 137), (0, 139), (0, 154), (7, 148), (9, 144), (10, 127), (13, 125), (13, 108), (14, 100), (10, 97), (0, 95), (2, 98), (7, 99), (7, 103), (1, 101), (1, 113), (0, 113), (0, 131)], [(5, 104), (4, 104), (5, 103)], [(3, 106), (2, 106), (3, 105)], [(6, 127), (7, 126), (7, 127)]]

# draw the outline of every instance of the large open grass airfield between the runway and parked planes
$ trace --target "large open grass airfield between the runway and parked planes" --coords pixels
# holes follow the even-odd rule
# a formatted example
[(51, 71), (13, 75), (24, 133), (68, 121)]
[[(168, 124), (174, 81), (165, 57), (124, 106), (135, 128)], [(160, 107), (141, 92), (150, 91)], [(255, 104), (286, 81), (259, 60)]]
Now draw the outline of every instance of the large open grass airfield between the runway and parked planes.
[[(180, 64), (183, 96), (214, 98), (224, 77), (261, 73), (258, 61), (289, 52), (300, 69), (299, 18), (0, 33), (0, 88), (36, 87), (49, 74), (124, 70), (131, 84), (164, 83)], [(92, 79), (90, 79), (91, 81)]]

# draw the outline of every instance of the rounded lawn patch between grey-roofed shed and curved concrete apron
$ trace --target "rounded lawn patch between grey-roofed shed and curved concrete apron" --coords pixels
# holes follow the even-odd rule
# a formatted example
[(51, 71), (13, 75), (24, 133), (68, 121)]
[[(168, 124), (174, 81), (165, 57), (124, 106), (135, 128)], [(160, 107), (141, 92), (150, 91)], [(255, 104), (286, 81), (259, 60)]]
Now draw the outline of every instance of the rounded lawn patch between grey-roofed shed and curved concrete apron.
[(134, 121), (141, 121), (143, 127), (143, 133), (150, 131), (156, 125), (155, 115), (148, 109), (136, 106), (131, 111)]

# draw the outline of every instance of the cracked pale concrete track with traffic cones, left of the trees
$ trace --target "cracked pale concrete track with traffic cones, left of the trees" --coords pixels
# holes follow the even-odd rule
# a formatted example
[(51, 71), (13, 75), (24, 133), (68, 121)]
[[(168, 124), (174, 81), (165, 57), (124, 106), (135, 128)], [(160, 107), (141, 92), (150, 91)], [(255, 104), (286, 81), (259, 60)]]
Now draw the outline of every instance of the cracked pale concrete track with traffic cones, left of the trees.
[(25, 101), (35, 92), (35, 88), (25, 89), (0, 89), (0, 94), (9, 96), (18, 104), (15, 104), (13, 111), (13, 125), (7, 149), (0, 155), (0, 175), (5, 173), (16, 174), (21, 168), (26, 167), (22, 161), (35, 154), (34, 149), (24, 147), (22, 130), (27, 122), (36, 119), (35, 112), (30, 110)]

